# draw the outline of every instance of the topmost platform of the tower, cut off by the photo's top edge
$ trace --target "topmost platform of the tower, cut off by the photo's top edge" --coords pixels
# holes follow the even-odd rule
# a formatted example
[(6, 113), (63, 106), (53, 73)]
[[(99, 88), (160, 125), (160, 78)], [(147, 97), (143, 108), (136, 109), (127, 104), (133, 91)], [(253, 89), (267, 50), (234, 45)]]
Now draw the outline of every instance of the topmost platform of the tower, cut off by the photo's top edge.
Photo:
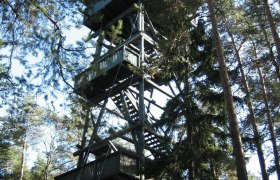
[[(93, 38), (102, 31), (110, 31), (112, 25), (117, 26), (122, 21), (122, 33), (119, 37), (129, 39), (137, 32), (137, 6), (138, 0), (84, 0), (87, 6), (84, 10), (83, 24), (94, 31)], [(105, 39), (111, 38), (105, 33)]]

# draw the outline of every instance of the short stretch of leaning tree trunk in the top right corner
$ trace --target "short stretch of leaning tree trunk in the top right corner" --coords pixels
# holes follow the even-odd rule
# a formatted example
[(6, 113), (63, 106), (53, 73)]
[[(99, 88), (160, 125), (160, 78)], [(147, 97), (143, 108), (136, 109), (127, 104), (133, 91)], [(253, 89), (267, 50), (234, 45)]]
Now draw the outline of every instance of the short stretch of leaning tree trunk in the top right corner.
[(264, 8), (265, 8), (266, 16), (268, 19), (268, 23), (270, 26), (271, 34), (272, 34), (272, 37), (273, 37), (273, 40), (274, 40), (274, 43), (276, 46), (277, 60), (279, 63), (280, 62), (280, 38), (279, 38), (279, 35), (276, 30), (275, 22), (272, 17), (272, 14), (271, 14), (270, 7), (268, 5), (268, 0), (263, 0), (263, 3), (264, 3)]

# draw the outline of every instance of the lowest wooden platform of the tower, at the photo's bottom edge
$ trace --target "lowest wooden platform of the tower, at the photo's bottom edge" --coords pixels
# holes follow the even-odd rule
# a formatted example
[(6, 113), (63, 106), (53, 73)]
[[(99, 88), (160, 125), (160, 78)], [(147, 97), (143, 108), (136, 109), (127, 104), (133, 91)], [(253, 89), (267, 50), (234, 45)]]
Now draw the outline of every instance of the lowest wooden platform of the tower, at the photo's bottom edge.
[[(54, 180), (80, 180), (100, 179), (100, 180), (137, 180), (139, 157), (133, 152), (125, 149), (104, 155), (86, 164), (82, 169), (76, 168), (64, 174), (56, 176)], [(159, 164), (146, 158), (145, 177), (151, 178)], [(155, 170), (155, 171), (154, 171)]]

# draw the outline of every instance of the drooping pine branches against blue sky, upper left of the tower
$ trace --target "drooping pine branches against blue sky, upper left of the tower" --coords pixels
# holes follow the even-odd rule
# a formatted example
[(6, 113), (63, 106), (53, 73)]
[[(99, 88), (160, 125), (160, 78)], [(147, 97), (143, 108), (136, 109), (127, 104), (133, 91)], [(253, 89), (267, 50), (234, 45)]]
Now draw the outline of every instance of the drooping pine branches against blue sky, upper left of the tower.
[[(81, 68), (77, 62), (88, 57), (82, 51), (87, 48), (84, 43), (69, 45), (64, 35), (68, 29), (81, 24), (82, 16), (77, 13), (81, 7), (79, 1), (3, 2), (0, 11), (5, 18), (0, 24), (0, 47), (5, 47), (5, 51), (1, 51), (0, 63), (6, 64), (7, 72), (19, 62), (24, 71), (17, 76), (28, 79), (28, 86), (36, 87), (40, 94), (48, 93), (42, 90), (44, 86), (52, 85), (56, 90), (68, 86), (68, 81)], [(63, 64), (61, 59), (65, 60)], [(14, 76), (6, 76), (5, 80), (11, 86), (22, 84)], [(5, 90), (11, 93), (12, 89)]]

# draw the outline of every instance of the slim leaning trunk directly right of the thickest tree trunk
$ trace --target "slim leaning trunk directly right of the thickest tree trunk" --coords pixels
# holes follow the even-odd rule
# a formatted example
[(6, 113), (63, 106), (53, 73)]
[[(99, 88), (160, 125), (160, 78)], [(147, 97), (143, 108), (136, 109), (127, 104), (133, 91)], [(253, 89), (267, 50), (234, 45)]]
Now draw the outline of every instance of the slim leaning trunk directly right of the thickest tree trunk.
[(236, 47), (236, 43), (235, 43), (235, 39), (233, 37), (233, 34), (231, 33), (231, 31), (229, 29), (229, 25), (228, 25), (226, 19), (224, 18), (223, 20), (224, 20), (224, 23), (226, 25), (226, 29), (227, 29), (227, 32), (229, 34), (229, 37), (231, 39), (232, 47), (233, 47), (233, 50), (235, 52), (236, 59), (238, 61), (239, 70), (241, 72), (242, 85), (243, 85), (243, 88), (245, 90), (247, 106), (248, 106), (249, 112), (250, 112), (250, 123), (251, 123), (253, 133), (254, 133), (254, 141), (255, 141), (255, 146), (257, 148), (257, 154), (258, 154), (258, 158), (259, 158), (260, 169), (261, 169), (261, 172), (262, 172), (262, 178), (263, 178), (263, 180), (268, 180), (269, 178), (268, 178), (268, 174), (267, 174), (267, 171), (266, 171), (264, 153), (263, 153), (263, 150), (262, 150), (262, 141), (261, 141), (261, 137), (260, 137), (258, 127), (257, 127), (257, 120), (256, 120), (255, 111), (254, 111), (253, 104), (252, 104), (250, 88), (249, 88), (249, 85), (247, 83), (247, 77), (246, 77), (246, 74), (244, 72), (243, 63), (242, 63), (242, 60), (241, 60), (241, 57), (240, 57), (240, 54), (239, 54), (239, 50)]

